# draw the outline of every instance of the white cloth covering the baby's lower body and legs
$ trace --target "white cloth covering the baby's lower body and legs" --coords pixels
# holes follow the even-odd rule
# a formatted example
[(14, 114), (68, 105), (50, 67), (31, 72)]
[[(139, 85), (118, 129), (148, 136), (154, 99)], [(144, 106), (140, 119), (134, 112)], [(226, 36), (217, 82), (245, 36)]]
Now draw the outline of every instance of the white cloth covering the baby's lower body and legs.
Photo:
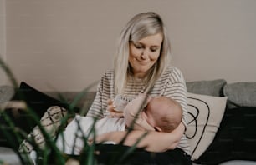
[(77, 155), (84, 148), (84, 140), (86, 139), (83, 138), (83, 134), (87, 138), (93, 138), (93, 136), (100, 135), (102, 133), (125, 131), (124, 118), (105, 117), (97, 120), (95, 122), (95, 132), (90, 133), (94, 122), (94, 118), (92, 117), (76, 115), (74, 120), (69, 122), (63, 134), (59, 134), (59, 137), (57, 138), (56, 145), (59, 150), (67, 154)]

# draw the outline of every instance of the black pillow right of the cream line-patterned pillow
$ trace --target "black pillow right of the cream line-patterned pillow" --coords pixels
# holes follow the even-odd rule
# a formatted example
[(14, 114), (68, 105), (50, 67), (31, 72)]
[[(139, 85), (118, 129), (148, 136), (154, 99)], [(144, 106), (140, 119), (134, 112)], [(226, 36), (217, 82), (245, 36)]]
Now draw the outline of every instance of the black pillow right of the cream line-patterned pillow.
[(212, 144), (195, 163), (256, 161), (256, 107), (227, 109)]

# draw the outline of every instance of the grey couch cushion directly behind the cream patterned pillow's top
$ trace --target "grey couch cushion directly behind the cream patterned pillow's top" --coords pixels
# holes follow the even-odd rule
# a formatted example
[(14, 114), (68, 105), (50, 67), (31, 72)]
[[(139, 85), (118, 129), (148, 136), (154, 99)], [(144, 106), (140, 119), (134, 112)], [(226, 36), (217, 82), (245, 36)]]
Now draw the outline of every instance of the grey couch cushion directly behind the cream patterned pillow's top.
[(223, 96), (223, 87), (226, 84), (224, 79), (208, 80), (208, 81), (195, 81), (186, 82), (187, 92), (210, 95), (210, 96)]

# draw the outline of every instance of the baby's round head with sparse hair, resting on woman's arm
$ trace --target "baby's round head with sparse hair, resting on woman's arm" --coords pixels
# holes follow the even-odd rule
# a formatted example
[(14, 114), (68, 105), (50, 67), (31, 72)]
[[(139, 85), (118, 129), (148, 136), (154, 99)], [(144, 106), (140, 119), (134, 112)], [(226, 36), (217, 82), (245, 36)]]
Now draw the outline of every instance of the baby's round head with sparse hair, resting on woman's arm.
[(160, 132), (170, 133), (182, 122), (181, 105), (168, 97), (152, 97), (145, 113), (146, 121)]

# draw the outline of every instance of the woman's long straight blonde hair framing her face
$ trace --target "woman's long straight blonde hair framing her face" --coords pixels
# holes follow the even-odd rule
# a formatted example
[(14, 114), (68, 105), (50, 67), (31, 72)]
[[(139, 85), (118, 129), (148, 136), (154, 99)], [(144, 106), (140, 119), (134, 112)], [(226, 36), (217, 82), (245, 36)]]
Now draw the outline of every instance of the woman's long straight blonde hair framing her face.
[(131, 66), (129, 64), (129, 42), (137, 42), (144, 37), (161, 32), (163, 41), (161, 43), (161, 52), (155, 65), (151, 67), (145, 82), (147, 82), (146, 92), (151, 90), (156, 79), (165, 71), (171, 58), (170, 42), (166, 34), (166, 28), (161, 17), (152, 12), (139, 13), (126, 24), (120, 34), (117, 52), (115, 54), (114, 72), (115, 72), (115, 93), (122, 94), (126, 83), (132, 78)]

